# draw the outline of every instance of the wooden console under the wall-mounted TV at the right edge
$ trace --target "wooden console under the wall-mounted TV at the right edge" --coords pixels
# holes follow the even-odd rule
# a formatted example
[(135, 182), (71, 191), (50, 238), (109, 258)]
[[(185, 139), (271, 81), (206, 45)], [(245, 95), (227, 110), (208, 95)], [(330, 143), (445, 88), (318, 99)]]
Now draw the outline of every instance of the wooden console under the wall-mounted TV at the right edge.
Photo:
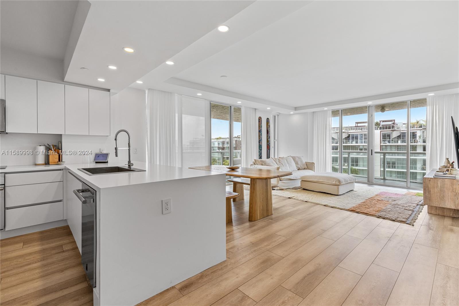
[(456, 179), (433, 177), (437, 169), (432, 169), (424, 176), (424, 205), (427, 212), (459, 218), (459, 175)]

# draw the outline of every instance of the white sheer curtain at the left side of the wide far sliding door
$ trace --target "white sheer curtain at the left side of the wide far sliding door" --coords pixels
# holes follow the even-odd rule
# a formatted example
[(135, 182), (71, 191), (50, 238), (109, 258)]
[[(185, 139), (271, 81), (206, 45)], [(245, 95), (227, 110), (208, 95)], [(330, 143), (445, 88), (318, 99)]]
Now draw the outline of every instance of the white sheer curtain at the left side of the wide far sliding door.
[(331, 111), (313, 113), (313, 161), (316, 172), (331, 171)]

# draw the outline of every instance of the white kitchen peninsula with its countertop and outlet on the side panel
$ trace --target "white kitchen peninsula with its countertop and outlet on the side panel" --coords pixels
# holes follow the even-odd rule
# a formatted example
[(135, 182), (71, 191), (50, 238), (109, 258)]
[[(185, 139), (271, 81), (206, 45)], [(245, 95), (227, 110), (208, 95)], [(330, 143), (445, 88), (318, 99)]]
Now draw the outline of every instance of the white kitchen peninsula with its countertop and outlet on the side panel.
[[(80, 251), (82, 203), (73, 190), (82, 183), (95, 190), (94, 305), (135, 305), (226, 259), (224, 174), (138, 162), (134, 167), (146, 171), (88, 175), (78, 170), (118, 165), (124, 166), (2, 171), (64, 171), (63, 219)], [(162, 213), (164, 199), (171, 199), (168, 214)]]

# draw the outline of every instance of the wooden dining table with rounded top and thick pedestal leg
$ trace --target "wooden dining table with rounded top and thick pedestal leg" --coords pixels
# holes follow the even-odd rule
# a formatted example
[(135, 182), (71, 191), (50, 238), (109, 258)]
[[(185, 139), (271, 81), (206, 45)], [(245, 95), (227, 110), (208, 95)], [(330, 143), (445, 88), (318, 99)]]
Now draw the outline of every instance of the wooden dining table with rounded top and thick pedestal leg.
[(290, 171), (246, 167), (230, 170), (226, 166), (218, 165), (190, 167), (190, 169), (220, 172), (227, 176), (250, 179), (249, 221), (257, 221), (273, 214), (271, 179), (292, 174)]

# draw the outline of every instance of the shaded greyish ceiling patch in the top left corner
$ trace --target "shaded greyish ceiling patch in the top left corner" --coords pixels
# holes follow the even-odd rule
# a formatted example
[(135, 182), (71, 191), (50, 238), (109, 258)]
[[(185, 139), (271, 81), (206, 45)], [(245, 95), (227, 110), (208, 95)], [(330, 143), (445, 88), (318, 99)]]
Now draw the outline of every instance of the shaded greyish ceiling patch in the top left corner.
[(78, 1), (0, 1), (2, 47), (63, 60)]

